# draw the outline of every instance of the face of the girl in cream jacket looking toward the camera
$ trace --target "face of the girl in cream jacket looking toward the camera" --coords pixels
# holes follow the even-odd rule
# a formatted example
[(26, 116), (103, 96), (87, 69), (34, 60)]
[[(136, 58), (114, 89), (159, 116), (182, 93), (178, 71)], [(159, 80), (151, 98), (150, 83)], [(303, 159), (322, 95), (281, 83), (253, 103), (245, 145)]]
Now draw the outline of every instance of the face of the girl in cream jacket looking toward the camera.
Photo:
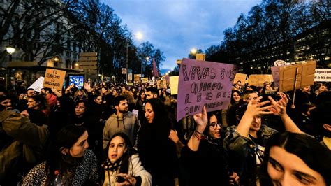
[(124, 138), (120, 136), (116, 136), (112, 138), (110, 141), (109, 149), (108, 149), (108, 158), (110, 162), (114, 163), (117, 159), (121, 158), (122, 155), (126, 152), (126, 144)]

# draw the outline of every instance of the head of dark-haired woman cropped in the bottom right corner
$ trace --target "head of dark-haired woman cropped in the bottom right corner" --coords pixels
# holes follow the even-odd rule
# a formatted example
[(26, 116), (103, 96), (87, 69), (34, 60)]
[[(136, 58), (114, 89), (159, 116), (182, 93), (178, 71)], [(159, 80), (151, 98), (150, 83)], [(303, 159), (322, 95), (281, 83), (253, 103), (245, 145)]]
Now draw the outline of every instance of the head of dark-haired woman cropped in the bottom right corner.
[(331, 153), (305, 134), (274, 134), (265, 148), (260, 185), (330, 185)]

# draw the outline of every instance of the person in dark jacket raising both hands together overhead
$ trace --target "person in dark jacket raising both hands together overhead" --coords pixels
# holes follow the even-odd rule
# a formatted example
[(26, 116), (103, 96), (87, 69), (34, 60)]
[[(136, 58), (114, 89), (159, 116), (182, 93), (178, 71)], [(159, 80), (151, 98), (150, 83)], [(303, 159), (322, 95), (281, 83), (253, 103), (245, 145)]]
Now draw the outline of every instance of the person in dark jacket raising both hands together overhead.
[[(224, 147), (228, 150), (230, 164), (235, 167), (240, 176), (241, 183), (249, 185), (255, 182), (257, 166), (263, 162), (265, 143), (276, 130), (262, 124), (262, 115), (276, 114), (281, 117), (286, 131), (302, 133), (293, 120), (286, 113), (288, 99), (281, 94), (279, 101), (260, 102), (262, 96), (251, 99), (248, 104), (242, 104), (238, 108), (238, 117), (241, 117), (238, 126), (228, 127)], [(272, 103), (267, 106), (268, 103)], [(271, 111), (270, 111), (271, 110)]]

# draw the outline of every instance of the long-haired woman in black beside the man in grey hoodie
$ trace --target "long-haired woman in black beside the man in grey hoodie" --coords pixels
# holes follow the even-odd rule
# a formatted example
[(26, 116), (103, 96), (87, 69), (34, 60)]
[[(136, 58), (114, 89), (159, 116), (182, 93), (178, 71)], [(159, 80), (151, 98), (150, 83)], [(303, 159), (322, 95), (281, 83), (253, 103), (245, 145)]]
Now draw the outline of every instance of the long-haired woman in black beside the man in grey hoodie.
[(172, 123), (163, 102), (149, 99), (138, 133), (138, 152), (142, 166), (151, 173), (153, 185), (175, 185), (179, 162), (176, 145), (170, 140)]

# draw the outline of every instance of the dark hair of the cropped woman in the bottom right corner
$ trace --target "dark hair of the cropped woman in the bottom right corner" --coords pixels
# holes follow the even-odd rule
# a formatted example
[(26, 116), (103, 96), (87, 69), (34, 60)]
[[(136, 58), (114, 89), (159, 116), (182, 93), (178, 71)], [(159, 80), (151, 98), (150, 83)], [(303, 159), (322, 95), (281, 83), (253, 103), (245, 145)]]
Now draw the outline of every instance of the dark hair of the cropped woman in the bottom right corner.
[[(270, 148), (284, 148), (309, 166), (309, 168), (323, 176), (326, 185), (331, 183), (331, 153), (318, 143), (314, 138), (305, 134), (290, 132), (277, 133), (269, 138), (265, 147), (265, 157), (259, 171), (260, 185), (272, 185), (272, 180), (267, 173), (267, 164), (270, 157)], [(290, 162), (288, 162), (290, 163)]]

